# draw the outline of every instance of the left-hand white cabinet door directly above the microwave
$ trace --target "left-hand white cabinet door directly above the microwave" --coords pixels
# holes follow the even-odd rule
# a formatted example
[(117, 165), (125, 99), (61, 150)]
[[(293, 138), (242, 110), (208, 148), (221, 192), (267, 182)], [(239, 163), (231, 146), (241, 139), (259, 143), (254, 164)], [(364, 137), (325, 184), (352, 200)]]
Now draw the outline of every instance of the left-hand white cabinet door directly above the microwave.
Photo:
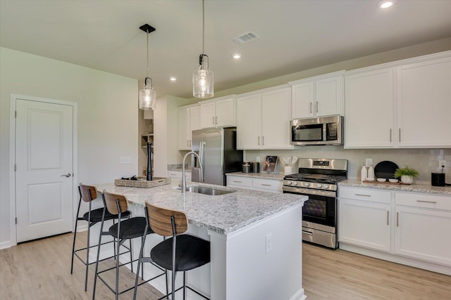
[(292, 86), (292, 119), (314, 116), (314, 81)]

